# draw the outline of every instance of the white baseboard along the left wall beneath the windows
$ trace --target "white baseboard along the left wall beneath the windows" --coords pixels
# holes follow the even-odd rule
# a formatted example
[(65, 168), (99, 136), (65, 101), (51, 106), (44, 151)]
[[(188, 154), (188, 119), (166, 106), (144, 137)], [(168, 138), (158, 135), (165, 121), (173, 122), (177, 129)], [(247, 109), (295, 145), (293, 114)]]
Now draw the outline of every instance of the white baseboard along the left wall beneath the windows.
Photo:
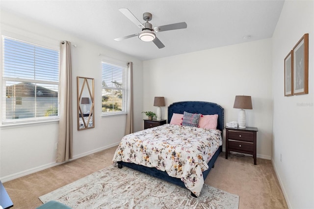
[[(107, 146), (104, 146), (104, 147), (101, 147), (101, 148), (98, 148), (98, 149), (95, 149), (95, 150), (92, 150), (92, 151), (89, 151), (89, 152), (86, 152), (86, 153), (82, 153), (82, 154), (73, 156), (73, 159), (70, 159), (69, 161), (78, 159), (80, 157), (85, 157), (85, 156), (88, 156), (88, 155), (91, 155), (91, 154), (103, 151), (105, 149), (117, 146), (119, 143), (120, 142), (117, 142), (117, 143), (110, 144), (110, 145), (107, 145)], [(66, 162), (69, 162), (69, 161), (66, 161)], [(21, 172), (15, 173), (15, 174), (11, 174), (11, 175), (8, 175), (8, 176), (1, 177), (0, 181), (2, 183), (8, 182), (8, 181), (11, 181), (11, 180), (14, 180), (14, 179), (17, 179), (17, 178), (20, 178), (20, 177), (32, 174), (32, 173), (36, 173), (38, 171), (45, 170), (47, 168), (51, 168), (51, 167), (56, 166), (56, 165), (60, 165), (62, 163), (65, 163), (65, 162), (51, 162), (51, 163), (47, 163), (45, 165), (37, 166), (35, 168), (27, 169), (25, 171), (21, 171)]]

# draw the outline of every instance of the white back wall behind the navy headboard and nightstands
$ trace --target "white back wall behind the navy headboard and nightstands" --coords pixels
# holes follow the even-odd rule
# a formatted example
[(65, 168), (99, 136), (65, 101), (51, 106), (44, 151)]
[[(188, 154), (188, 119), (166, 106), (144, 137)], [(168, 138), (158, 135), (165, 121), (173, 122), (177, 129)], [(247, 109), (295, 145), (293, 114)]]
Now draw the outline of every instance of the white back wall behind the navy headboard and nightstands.
[[(143, 73), (144, 111), (156, 111), (155, 96), (165, 97), (167, 106), (179, 101), (213, 102), (225, 108), (226, 125), (237, 120), (238, 109), (233, 108), (235, 95), (251, 96), (253, 109), (246, 110), (247, 126), (259, 129), (258, 157), (270, 159), (270, 39), (144, 61)], [(162, 113), (166, 119), (166, 107), (162, 107)]]

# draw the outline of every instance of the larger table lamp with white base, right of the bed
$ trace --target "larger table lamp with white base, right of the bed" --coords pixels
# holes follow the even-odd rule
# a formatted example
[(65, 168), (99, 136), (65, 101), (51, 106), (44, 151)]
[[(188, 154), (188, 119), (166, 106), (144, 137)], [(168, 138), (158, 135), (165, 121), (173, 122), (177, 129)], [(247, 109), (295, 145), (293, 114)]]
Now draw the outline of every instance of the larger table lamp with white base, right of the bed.
[(253, 109), (251, 96), (235, 96), (234, 108), (240, 109), (237, 117), (239, 128), (245, 128), (246, 115), (244, 109)]

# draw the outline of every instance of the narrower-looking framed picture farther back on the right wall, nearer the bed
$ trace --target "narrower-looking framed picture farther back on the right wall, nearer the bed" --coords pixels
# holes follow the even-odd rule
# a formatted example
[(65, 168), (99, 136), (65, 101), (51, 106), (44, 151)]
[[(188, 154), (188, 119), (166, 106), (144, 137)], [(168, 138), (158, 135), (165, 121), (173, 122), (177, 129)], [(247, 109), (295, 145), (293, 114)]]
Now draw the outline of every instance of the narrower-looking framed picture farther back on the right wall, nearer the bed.
[(285, 97), (293, 95), (292, 50), (285, 57)]

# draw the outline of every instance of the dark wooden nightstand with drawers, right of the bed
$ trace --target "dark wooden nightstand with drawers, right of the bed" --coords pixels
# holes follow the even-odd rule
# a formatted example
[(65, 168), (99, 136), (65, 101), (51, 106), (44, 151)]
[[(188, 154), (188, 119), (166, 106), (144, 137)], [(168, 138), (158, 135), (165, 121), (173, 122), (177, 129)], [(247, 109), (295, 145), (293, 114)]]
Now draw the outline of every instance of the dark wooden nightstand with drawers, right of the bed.
[(230, 128), (226, 127), (226, 159), (230, 151), (253, 155), (256, 165), (256, 135), (255, 127)]

